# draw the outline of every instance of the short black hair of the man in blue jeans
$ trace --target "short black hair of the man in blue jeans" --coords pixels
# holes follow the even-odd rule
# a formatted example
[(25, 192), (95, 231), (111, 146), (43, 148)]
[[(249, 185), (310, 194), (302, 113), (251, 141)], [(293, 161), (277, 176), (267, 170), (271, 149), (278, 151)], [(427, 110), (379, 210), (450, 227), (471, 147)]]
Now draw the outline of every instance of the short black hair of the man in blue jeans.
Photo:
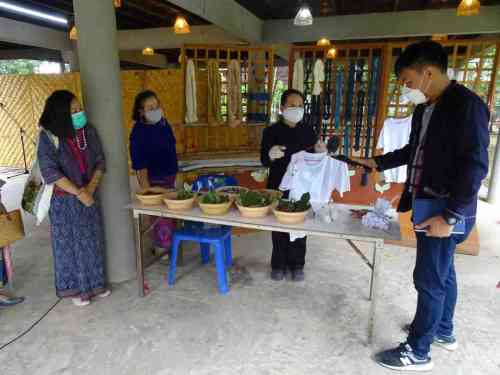
[(426, 65), (435, 66), (442, 73), (446, 73), (448, 54), (441, 44), (429, 40), (409, 45), (398, 57), (395, 73), (399, 77), (404, 69), (420, 71)]

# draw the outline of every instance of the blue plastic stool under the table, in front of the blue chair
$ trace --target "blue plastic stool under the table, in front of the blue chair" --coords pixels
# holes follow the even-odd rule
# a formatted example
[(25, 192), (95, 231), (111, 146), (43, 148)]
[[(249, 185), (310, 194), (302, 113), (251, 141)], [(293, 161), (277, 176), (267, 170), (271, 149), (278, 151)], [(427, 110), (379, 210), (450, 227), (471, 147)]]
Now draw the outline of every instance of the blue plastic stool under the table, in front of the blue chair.
[(175, 231), (172, 241), (172, 258), (170, 260), (170, 270), (168, 273), (169, 286), (173, 286), (175, 283), (177, 255), (179, 253), (179, 245), (182, 241), (195, 241), (200, 244), (202, 264), (208, 264), (210, 262), (210, 245), (213, 245), (219, 292), (221, 294), (228, 293), (229, 286), (226, 269), (233, 265), (231, 228), (221, 227), (208, 230), (195, 228)]

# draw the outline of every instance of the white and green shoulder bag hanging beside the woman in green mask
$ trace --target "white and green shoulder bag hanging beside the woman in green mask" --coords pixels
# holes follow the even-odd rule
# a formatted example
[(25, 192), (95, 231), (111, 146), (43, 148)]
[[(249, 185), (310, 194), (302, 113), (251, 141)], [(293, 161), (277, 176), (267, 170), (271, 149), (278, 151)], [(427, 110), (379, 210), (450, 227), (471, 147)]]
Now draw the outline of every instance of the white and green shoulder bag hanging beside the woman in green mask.
[[(54, 143), (56, 148), (58, 148), (58, 138), (48, 132), (46, 132), (46, 134), (48, 134), (49, 139)], [(40, 140), (40, 137), (38, 137), (38, 139)], [(38, 155), (38, 144), (35, 155)], [(26, 185), (24, 186), (23, 200), (21, 204), (24, 211), (35, 216), (36, 225), (40, 225), (47, 217), (53, 192), (54, 184), (46, 184), (44, 182), (42, 173), (40, 172), (38, 158), (36, 158), (31, 167)]]

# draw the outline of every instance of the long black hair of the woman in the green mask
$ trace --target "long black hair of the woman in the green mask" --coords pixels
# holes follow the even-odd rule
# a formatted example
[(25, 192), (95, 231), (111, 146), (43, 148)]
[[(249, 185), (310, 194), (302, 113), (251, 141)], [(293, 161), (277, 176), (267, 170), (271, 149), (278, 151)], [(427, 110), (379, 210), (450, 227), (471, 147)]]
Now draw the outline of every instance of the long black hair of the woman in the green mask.
[(74, 136), (71, 119), (71, 102), (75, 95), (67, 90), (57, 90), (47, 98), (40, 117), (40, 126), (59, 138)]

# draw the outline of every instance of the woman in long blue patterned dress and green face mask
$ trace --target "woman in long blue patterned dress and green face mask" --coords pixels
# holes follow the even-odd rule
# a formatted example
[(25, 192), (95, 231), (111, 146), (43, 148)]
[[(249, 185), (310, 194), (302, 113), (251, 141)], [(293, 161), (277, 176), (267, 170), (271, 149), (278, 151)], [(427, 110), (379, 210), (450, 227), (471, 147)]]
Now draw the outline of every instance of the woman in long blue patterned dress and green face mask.
[(55, 91), (47, 99), (40, 127), (40, 171), (55, 185), (49, 216), (56, 294), (86, 306), (93, 297), (111, 294), (97, 191), (105, 171), (102, 145), (69, 91)]

